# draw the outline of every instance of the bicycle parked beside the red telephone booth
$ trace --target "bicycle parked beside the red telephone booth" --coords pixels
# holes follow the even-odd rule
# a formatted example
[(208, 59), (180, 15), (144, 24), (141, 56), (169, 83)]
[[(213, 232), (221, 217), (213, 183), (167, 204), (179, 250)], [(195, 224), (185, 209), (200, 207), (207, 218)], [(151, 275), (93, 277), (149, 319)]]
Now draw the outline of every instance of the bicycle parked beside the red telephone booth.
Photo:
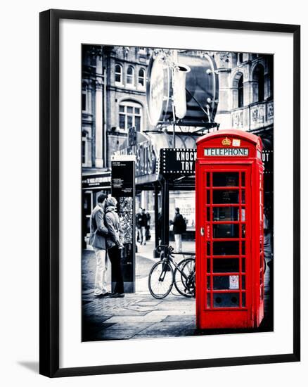
[(154, 298), (167, 297), (173, 285), (181, 296), (195, 296), (195, 259), (184, 258), (177, 264), (173, 250), (172, 246), (164, 245), (156, 248), (160, 261), (153, 265), (148, 275), (148, 288)]

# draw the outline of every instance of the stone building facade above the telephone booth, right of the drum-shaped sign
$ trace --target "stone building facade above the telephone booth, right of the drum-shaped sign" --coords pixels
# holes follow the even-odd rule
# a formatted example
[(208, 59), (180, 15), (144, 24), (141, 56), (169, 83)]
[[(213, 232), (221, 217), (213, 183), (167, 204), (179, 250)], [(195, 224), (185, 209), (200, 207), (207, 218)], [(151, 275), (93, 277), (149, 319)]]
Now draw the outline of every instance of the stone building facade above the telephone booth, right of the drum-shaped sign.
[(221, 127), (255, 131), (274, 125), (273, 56), (215, 53)]

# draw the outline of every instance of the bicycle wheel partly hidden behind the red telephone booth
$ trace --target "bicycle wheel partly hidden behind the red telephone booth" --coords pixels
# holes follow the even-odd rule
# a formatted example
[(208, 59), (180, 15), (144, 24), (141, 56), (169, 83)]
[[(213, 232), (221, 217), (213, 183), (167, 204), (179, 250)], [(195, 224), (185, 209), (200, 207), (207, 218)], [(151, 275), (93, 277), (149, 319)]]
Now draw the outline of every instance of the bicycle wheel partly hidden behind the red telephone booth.
[(179, 262), (179, 269), (174, 272), (174, 286), (185, 297), (195, 296), (195, 260), (185, 258)]

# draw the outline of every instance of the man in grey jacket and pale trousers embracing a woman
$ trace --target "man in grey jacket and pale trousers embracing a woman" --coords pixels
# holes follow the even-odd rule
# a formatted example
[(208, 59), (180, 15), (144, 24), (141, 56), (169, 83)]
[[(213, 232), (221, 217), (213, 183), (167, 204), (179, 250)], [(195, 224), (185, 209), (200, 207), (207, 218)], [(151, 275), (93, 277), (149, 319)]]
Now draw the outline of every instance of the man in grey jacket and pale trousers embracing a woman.
[(90, 244), (94, 248), (96, 258), (96, 273), (94, 284), (94, 296), (104, 297), (110, 295), (107, 291), (108, 258), (106, 255), (106, 236), (108, 229), (104, 224), (105, 199), (107, 195), (100, 194), (97, 205), (90, 216)]

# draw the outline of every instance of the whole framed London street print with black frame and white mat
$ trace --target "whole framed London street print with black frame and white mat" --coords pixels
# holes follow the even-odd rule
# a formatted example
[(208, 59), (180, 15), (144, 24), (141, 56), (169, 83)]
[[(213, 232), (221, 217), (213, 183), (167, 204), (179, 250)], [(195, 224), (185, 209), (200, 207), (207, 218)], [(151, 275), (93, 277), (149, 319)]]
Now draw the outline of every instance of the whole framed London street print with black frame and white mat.
[(300, 26), (44, 11), (40, 101), (40, 373), (300, 361)]

